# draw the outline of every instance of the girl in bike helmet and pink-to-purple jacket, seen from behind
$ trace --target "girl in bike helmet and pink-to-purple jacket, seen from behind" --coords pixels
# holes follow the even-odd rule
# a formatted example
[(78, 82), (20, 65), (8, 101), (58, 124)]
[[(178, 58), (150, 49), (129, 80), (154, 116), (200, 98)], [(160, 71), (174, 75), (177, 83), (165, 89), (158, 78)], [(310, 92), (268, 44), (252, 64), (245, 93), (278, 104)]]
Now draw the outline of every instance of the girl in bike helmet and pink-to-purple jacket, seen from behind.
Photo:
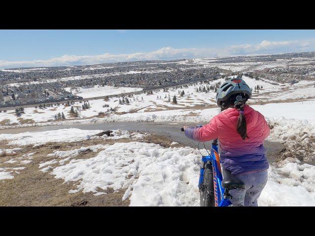
[(263, 144), (270, 129), (264, 116), (246, 105), (251, 96), (252, 90), (244, 80), (230, 79), (216, 95), (221, 113), (205, 126), (184, 126), (185, 135), (195, 141), (219, 138), (222, 168), (245, 183), (245, 189), (229, 192), (234, 206), (257, 207), (268, 177), (269, 164)]

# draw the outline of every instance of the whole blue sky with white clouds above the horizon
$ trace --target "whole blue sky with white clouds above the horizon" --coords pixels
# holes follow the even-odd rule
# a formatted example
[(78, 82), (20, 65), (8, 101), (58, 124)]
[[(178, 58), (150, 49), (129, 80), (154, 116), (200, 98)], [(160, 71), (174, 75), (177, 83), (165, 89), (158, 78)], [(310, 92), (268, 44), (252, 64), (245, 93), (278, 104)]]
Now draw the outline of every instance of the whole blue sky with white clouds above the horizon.
[(0, 30), (0, 69), (315, 51), (315, 30)]

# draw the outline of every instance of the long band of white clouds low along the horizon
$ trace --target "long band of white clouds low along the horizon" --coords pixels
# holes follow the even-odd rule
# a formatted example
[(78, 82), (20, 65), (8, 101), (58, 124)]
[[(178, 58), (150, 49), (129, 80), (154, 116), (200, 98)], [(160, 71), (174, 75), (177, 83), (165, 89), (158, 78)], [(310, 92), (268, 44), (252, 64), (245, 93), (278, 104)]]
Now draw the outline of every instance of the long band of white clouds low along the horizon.
[(87, 65), (107, 62), (135, 61), (135, 60), (167, 60), (189, 59), (203, 57), (217, 57), (248, 54), (272, 54), (284, 52), (315, 51), (315, 40), (304, 41), (267, 41), (259, 44), (232, 45), (226, 48), (180, 48), (164, 47), (153, 52), (138, 52), (131, 54), (104, 53), (94, 56), (64, 55), (48, 60), (6, 61), (0, 60), (0, 68), (40, 67)]

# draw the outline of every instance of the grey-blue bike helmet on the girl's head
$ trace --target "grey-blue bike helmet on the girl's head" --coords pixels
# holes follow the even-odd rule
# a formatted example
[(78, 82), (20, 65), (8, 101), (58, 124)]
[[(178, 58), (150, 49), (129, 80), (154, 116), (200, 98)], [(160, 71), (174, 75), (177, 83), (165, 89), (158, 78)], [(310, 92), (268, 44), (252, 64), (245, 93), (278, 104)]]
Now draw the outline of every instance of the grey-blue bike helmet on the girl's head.
[(216, 101), (219, 107), (222, 102), (227, 100), (231, 95), (235, 93), (243, 93), (246, 100), (252, 97), (252, 89), (240, 78), (232, 78), (225, 81), (218, 89)]

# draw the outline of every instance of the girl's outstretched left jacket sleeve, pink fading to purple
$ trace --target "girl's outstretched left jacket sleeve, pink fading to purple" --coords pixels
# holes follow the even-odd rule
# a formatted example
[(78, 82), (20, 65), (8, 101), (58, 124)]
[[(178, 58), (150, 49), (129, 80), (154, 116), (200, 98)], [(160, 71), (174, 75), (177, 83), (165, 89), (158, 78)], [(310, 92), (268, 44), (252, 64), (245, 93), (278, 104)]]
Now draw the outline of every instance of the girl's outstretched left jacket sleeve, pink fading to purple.
[(185, 135), (189, 139), (199, 142), (206, 142), (219, 138), (219, 132), (215, 118), (212, 118), (210, 122), (205, 126), (188, 127), (185, 130)]

